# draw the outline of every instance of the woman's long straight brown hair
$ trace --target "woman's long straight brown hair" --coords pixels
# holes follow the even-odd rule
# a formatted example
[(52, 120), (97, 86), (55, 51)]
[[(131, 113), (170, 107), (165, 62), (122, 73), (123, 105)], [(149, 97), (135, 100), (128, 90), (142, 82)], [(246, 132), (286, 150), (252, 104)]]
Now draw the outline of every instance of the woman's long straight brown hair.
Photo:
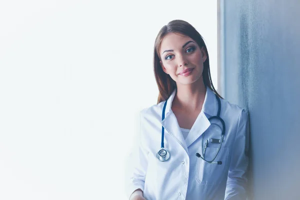
[(160, 65), (160, 56), (159, 56), (159, 47), (160, 43), (163, 39), (163, 37), (170, 33), (179, 33), (182, 35), (189, 36), (192, 38), (200, 48), (203, 48), (206, 54), (206, 60), (203, 63), (203, 82), (205, 86), (208, 86), (216, 95), (218, 95), (220, 98), (222, 98), (214, 89), (211, 76), (210, 76), (210, 70), (209, 70), (209, 56), (207, 52), (206, 45), (204, 43), (204, 40), (200, 33), (188, 22), (183, 20), (172, 20), (168, 22), (168, 24), (164, 25), (158, 32), (155, 44), (154, 44), (154, 59), (153, 59), (153, 70), (154, 75), (156, 79), (156, 83), (158, 86), (159, 94), (157, 99), (157, 104), (161, 101), (166, 100), (172, 93), (172, 91), (176, 88), (176, 82), (168, 75), (166, 74)]

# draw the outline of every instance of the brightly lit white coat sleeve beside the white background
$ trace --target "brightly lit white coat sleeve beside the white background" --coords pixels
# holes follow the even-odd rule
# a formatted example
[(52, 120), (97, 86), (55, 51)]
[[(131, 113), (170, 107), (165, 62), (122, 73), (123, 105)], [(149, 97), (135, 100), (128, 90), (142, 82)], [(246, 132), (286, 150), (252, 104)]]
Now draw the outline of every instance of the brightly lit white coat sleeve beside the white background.
[(139, 138), (129, 156), (128, 175), (126, 177), (126, 193), (129, 198), (136, 189), (144, 191), (144, 181), (148, 165), (148, 152), (144, 148), (144, 138), (142, 134), (142, 113), (139, 113)]

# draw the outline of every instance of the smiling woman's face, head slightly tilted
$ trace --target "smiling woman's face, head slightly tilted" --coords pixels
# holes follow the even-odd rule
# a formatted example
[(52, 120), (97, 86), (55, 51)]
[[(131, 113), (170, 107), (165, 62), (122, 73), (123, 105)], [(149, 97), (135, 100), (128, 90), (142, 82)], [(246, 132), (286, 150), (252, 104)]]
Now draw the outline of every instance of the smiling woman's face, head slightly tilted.
[[(160, 64), (176, 84), (191, 84), (202, 79), (204, 48), (188, 36), (168, 33), (160, 43)], [(184, 72), (184, 70), (186, 72)]]

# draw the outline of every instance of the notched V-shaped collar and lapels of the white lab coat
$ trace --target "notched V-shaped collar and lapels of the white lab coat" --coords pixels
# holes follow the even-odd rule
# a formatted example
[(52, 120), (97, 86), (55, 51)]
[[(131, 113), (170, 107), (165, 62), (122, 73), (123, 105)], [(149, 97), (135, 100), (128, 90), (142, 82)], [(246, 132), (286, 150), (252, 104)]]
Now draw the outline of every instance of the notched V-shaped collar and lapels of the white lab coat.
[[(171, 110), (171, 104), (175, 97), (176, 89), (171, 93), (167, 99), (165, 107), (165, 118), (161, 121), (162, 126), (165, 130), (175, 138), (175, 140), (185, 149), (188, 153), (187, 147), (192, 144), (210, 125), (207, 117), (216, 115), (217, 101), (213, 91), (206, 86), (206, 93), (202, 110), (197, 116), (194, 124), (192, 125), (186, 139), (184, 140), (177, 118)], [(162, 103), (163, 104), (163, 103)], [(208, 116), (209, 115), (209, 116)]]

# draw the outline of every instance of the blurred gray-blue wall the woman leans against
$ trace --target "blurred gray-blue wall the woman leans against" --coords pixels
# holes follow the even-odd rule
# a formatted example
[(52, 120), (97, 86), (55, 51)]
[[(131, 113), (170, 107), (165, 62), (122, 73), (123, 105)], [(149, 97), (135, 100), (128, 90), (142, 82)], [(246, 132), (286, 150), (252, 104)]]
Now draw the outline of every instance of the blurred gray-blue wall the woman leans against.
[(249, 199), (300, 199), (300, 0), (219, 0), (221, 94), (249, 110)]

